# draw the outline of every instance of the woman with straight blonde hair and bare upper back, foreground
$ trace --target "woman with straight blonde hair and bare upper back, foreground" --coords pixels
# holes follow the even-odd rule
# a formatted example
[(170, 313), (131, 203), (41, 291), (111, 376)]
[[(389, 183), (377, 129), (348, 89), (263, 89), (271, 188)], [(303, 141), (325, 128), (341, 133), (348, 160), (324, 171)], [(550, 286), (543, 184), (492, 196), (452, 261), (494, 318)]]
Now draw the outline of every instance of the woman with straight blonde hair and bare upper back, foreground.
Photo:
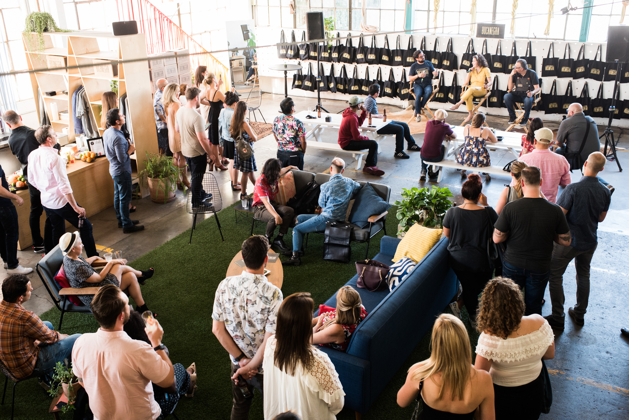
[(441, 314), (430, 338), (430, 358), (408, 370), (398, 391), (398, 405), (424, 401), (418, 419), (494, 419), (494, 390), (487, 372), (472, 369), (472, 349), (463, 322)]

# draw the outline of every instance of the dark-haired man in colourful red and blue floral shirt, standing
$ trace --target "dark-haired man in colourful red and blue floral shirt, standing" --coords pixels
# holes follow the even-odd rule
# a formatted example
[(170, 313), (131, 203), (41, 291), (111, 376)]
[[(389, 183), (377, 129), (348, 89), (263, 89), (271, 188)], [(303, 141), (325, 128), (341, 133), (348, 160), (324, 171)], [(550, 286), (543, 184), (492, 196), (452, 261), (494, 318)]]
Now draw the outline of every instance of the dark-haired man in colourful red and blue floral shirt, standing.
[(304, 123), (292, 116), (295, 103), (292, 98), (285, 98), (280, 103), (284, 115), (277, 116), (273, 122), (273, 135), (277, 142), (277, 159), (282, 167), (297, 166), (304, 170), (304, 153), (306, 153), (306, 128)]

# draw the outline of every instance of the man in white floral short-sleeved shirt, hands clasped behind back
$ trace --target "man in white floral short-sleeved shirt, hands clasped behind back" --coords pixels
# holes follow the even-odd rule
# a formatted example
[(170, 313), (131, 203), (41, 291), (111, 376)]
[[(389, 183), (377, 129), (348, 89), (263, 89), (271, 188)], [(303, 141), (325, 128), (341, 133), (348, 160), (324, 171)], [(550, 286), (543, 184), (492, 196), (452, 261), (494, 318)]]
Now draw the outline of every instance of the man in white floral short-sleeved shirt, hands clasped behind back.
[(264, 276), (269, 241), (255, 235), (242, 243), (245, 270), (221, 281), (214, 296), (212, 332), (230, 353), (233, 406), (231, 420), (247, 420), (253, 398), (245, 398), (238, 380), (249, 393), (264, 389), (262, 358), (267, 340), (276, 332), (282, 291)]

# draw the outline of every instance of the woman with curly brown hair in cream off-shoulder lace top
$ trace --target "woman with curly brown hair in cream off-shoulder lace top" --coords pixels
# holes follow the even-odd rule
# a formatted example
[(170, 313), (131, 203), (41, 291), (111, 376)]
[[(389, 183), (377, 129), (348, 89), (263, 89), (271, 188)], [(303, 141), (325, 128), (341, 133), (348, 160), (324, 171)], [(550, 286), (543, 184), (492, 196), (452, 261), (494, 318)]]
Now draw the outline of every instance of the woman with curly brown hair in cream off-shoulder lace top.
[[(505, 277), (487, 283), (476, 317), (478, 370), (494, 382), (496, 419), (538, 419), (543, 408), (542, 359), (555, 357), (555, 339), (542, 315), (524, 315), (520, 287)], [(514, 405), (515, 401), (522, 404)]]

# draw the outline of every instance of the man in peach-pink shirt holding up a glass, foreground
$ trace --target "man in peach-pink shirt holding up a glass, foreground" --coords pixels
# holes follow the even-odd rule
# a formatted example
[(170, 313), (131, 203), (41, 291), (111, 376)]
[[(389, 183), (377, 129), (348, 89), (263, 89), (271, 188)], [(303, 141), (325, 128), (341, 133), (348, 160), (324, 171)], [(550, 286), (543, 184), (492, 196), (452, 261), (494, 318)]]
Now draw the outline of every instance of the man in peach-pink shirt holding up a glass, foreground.
[(155, 320), (152, 331), (147, 327), (151, 344), (133, 340), (123, 329), (129, 311), (129, 298), (120, 288), (101, 287), (92, 300), (92, 313), (101, 327), (83, 334), (72, 349), (72, 370), (89, 395), (94, 419), (155, 420), (162, 410), (151, 382), (162, 388), (175, 383), (175, 368), (162, 344), (162, 326)]

